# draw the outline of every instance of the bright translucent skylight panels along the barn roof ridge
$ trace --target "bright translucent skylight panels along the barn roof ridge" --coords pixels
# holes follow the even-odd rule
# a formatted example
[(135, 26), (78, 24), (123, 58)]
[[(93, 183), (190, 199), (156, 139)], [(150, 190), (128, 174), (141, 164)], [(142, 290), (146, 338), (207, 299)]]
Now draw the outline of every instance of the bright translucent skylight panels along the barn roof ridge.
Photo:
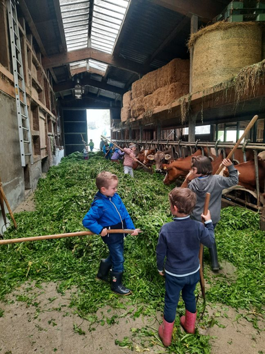
[[(90, 0), (59, 0), (59, 3), (68, 51), (88, 48), (90, 43), (92, 48), (112, 53), (129, 0), (94, 0), (92, 7)], [(81, 67), (106, 71), (108, 66), (91, 59), (70, 64), (71, 69)]]

